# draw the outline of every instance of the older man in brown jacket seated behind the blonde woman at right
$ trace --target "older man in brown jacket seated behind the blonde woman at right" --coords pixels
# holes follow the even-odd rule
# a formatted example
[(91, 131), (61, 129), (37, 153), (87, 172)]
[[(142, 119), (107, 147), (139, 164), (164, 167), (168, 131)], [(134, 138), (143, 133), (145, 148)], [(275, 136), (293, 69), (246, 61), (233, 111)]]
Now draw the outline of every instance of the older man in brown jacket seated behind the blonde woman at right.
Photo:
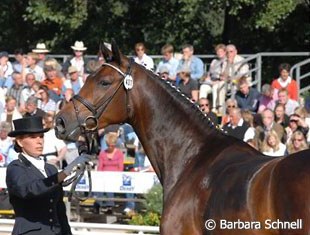
[(282, 143), (285, 143), (285, 133), (284, 128), (274, 121), (274, 113), (270, 109), (265, 109), (262, 112), (262, 126), (257, 126), (255, 128), (255, 141), (257, 146), (261, 149), (262, 143), (271, 130), (274, 130)]

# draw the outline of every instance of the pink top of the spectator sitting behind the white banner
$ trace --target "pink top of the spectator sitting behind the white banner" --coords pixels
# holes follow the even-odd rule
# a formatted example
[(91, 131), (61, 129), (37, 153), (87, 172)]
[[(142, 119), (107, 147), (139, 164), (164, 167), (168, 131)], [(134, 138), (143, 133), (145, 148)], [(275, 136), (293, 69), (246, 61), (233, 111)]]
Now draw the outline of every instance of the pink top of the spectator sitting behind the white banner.
[(112, 153), (108, 153), (106, 150), (100, 151), (98, 160), (98, 171), (124, 170), (124, 154), (119, 149), (114, 149)]

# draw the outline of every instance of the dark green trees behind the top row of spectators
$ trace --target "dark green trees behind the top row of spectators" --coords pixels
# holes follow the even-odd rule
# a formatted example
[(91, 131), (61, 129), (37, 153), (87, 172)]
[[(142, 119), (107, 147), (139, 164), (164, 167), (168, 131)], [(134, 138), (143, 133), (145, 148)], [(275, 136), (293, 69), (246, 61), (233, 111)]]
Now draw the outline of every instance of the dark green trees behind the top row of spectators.
[(96, 54), (100, 40), (111, 38), (126, 54), (138, 41), (149, 54), (165, 43), (177, 50), (191, 43), (198, 54), (220, 42), (237, 44), (241, 53), (309, 46), (308, 0), (4, 0), (1, 7), (0, 47), (9, 51), (44, 41), (53, 53), (68, 53), (83, 40)]

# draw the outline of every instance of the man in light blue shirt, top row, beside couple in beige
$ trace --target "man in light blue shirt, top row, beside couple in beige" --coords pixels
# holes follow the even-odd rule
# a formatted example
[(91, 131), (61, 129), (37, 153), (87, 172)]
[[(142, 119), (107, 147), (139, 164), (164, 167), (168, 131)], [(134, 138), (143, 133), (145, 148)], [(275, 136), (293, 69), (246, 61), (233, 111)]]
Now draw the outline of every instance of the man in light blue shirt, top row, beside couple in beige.
[(198, 81), (204, 74), (202, 60), (194, 55), (194, 47), (190, 44), (185, 44), (182, 46), (182, 53), (182, 59), (179, 61), (177, 70), (180, 70), (184, 66), (188, 67), (190, 77), (193, 80)]

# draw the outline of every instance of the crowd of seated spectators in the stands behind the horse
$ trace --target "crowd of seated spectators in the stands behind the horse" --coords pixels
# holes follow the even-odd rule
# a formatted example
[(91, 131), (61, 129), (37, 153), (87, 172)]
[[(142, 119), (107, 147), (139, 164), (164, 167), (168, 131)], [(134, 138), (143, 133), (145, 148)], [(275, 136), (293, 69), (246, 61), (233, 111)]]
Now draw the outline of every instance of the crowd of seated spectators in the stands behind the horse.
[[(89, 63), (84, 56), (87, 47), (81, 41), (76, 41), (71, 48), (72, 57), (62, 64), (49, 55), (44, 43), (38, 43), (28, 53), (15, 50), (12, 61), (7, 52), (0, 52), (1, 166), (17, 157), (12, 148), (13, 139), (7, 136), (12, 121), (22, 116), (42, 116), (44, 125), (53, 130), (55, 114), (79, 92), (87, 76), (102, 62), (102, 58), (98, 58), (95, 65)], [(218, 44), (215, 47), (216, 57), (207, 71), (190, 44), (182, 46), (179, 56), (175, 56), (171, 44), (164, 45), (161, 50), (163, 58), (158, 64), (146, 54), (143, 43), (137, 43), (134, 50), (136, 63), (153, 70), (159, 79), (177, 86), (228, 135), (269, 156), (285, 156), (309, 147), (309, 107), (307, 109), (299, 102), (299, 88), (289, 76), (289, 64), (280, 64), (279, 77), (271, 84), (264, 84), (259, 92), (252, 86), (249, 64), (238, 54), (235, 45)], [(113, 166), (106, 163), (114, 162), (114, 147), (124, 149), (129, 140), (134, 140), (135, 169), (149, 169), (149, 164), (144, 164), (147, 158), (143, 148), (127, 124), (101, 133), (104, 134), (101, 135), (98, 170), (114, 167), (123, 170), (121, 152), (117, 152)], [(117, 133), (117, 142), (110, 133)], [(105, 139), (107, 134), (109, 136)], [(57, 140), (54, 131), (47, 132), (45, 139), (49, 144), (44, 145), (44, 156), (59, 168), (78, 155), (76, 144)], [(134, 206), (128, 205), (128, 208), (134, 209)]]

